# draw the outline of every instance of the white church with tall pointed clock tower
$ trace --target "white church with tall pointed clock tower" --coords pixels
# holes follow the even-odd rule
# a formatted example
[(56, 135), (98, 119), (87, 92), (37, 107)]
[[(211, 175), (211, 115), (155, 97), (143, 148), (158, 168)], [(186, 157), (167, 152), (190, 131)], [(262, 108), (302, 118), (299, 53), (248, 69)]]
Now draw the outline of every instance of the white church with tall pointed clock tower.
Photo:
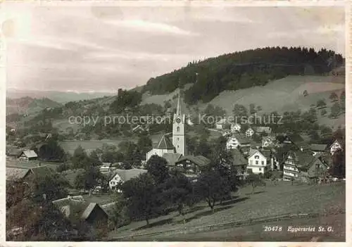
[(154, 155), (163, 157), (165, 153), (175, 154), (175, 156), (179, 157), (186, 155), (186, 139), (184, 136), (185, 119), (185, 115), (181, 112), (179, 93), (176, 113), (174, 114), (174, 118), (172, 120), (172, 141), (168, 138), (168, 134), (164, 134), (160, 141), (153, 145), (151, 151), (146, 153), (146, 161)]

